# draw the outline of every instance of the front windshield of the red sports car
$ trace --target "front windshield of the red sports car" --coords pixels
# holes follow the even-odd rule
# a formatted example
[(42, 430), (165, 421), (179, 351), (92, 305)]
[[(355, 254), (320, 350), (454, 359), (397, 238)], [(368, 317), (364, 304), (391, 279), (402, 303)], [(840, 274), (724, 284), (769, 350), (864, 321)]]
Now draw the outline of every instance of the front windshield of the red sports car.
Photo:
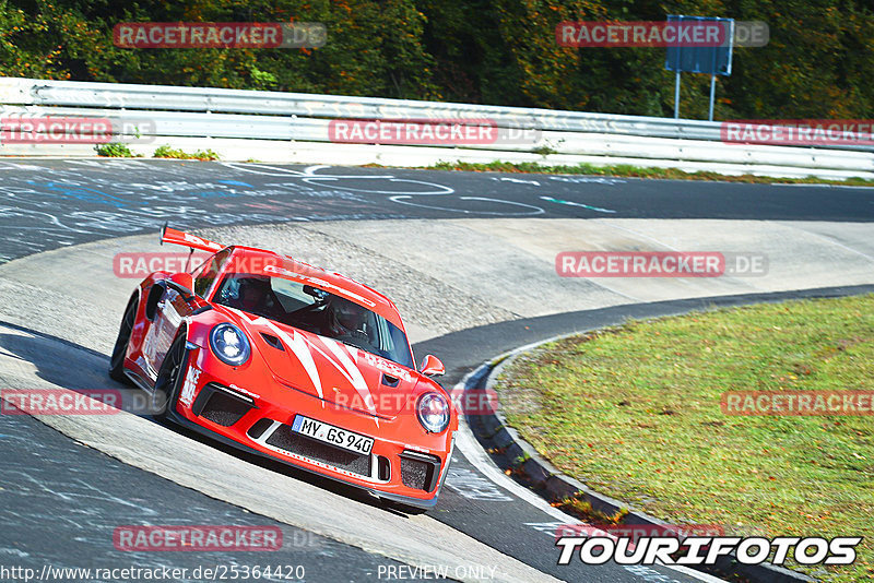
[(213, 300), (413, 368), (413, 355), (400, 328), (324, 289), (269, 275), (228, 274)]

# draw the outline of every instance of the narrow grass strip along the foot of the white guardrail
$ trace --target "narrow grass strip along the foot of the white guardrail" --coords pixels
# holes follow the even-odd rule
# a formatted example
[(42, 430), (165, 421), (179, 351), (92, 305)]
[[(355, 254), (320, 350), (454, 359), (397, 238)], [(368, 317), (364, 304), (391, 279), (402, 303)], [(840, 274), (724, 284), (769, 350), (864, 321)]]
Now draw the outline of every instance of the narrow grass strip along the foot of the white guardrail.
[(488, 164), (473, 164), (468, 162), (439, 162), (428, 167), (430, 170), (463, 170), (489, 172), (528, 172), (528, 174), (581, 174), (595, 176), (615, 176), (631, 178), (661, 178), (666, 180), (718, 180), (722, 182), (749, 182), (749, 183), (782, 183), (782, 185), (838, 185), (843, 187), (874, 187), (874, 180), (864, 178), (848, 178), (847, 180), (826, 180), (808, 176), (806, 178), (772, 178), (768, 176), (725, 176), (719, 172), (686, 172), (676, 168), (642, 168), (619, 164), (614, 166), (594, 166), (580, 164), (578, 166), (545, 166), (536, 162), (492, 162)]

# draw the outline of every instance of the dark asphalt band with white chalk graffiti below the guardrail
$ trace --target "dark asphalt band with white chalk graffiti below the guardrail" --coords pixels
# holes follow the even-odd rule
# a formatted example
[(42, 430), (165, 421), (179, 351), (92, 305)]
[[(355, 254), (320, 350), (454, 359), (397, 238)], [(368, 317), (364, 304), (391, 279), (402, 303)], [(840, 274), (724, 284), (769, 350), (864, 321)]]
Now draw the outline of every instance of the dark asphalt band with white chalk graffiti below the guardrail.
[(463, 217), (874, 221), (874, 189), (176, 160), (0, 160), (0, 262), (177, 228)]

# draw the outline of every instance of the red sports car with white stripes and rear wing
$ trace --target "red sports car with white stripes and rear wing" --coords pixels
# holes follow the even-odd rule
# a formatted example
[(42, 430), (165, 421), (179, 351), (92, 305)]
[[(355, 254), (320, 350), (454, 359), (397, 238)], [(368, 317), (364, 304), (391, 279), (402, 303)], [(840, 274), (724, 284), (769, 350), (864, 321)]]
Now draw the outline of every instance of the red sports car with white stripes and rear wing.
[(458, 415), (418, 370), (398, 309), (338, 273), (166, 226), (213, 252), (155, 272), (125, 310), (109, 367), (166, 401), (160, 417), (413, 508), (437, 502)]

